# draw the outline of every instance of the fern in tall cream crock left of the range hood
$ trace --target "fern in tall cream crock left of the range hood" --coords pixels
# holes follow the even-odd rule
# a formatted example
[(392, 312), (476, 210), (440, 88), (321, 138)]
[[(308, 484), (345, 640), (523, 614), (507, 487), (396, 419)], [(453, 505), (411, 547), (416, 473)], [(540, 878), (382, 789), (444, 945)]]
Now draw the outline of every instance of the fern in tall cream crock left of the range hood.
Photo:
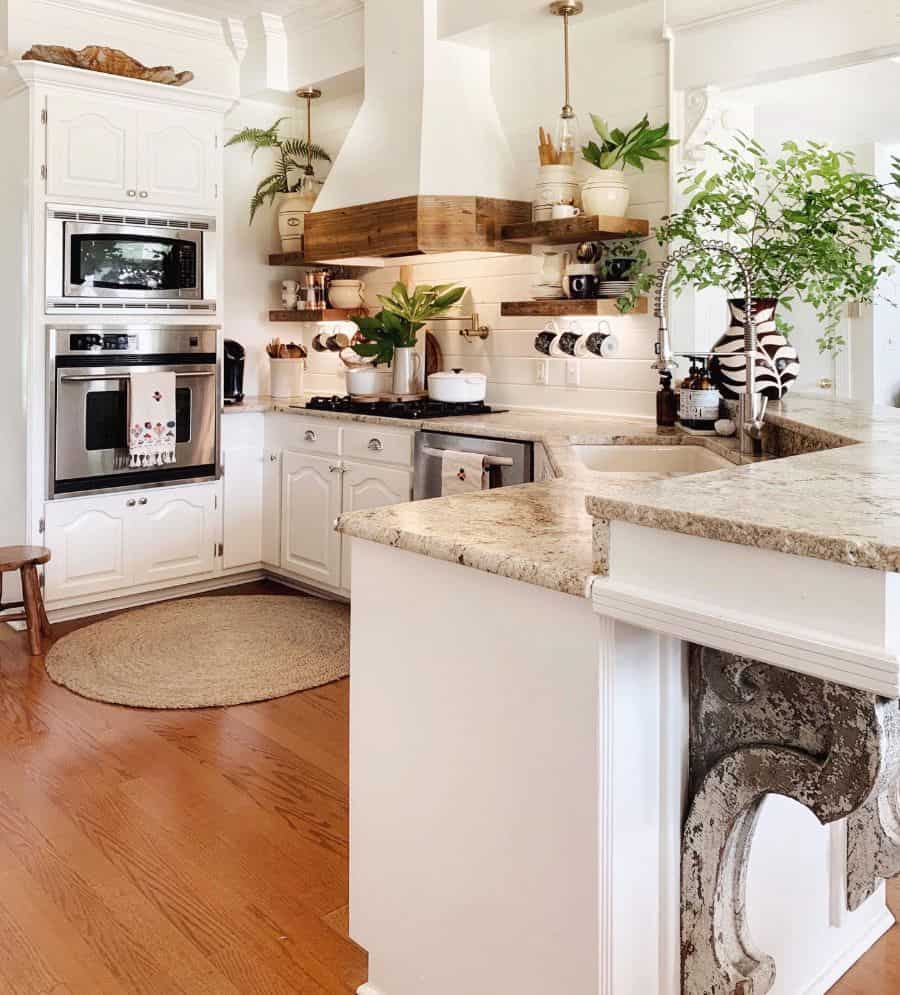
[(275, 149), (274, 170), (261, 179), (250, 198), (250, 224), (264, 205), (278, 205), (278, 234), (284, 252), (303, 249), (303, 222), (312, 209), (321, 185), (315, 178), (313, 162), (331, 162), (319, 145), (303, 138), (282, 138), (278, 129), (287, 118), (279, 118), (269, 128), (244, 128), (225, 143), (249, 145), (251, 158), (260, 149)]

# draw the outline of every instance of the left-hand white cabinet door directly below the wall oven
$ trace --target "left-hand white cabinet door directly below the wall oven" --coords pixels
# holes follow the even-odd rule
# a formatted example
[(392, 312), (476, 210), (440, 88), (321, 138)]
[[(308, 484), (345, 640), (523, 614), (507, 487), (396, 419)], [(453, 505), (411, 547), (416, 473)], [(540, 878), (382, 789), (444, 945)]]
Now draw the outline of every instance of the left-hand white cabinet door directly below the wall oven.
[(47, 505), (48, 602), (119, 591), (132, 583), (128, 537), (135, 509), (125, 500), (97, 497)]

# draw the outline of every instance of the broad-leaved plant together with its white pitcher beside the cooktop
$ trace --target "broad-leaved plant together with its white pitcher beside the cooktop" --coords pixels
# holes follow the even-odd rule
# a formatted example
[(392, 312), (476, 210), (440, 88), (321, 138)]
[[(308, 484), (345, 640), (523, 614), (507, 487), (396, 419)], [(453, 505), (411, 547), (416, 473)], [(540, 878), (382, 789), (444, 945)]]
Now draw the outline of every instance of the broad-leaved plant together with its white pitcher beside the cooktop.
[(446, 315), (466, 292), (452, 283), (435, 286), (422, 284), (410, 292), (406, 284), (395, 283), (389, 296), (378, 295), (382, 310), (373, 318), (352, 320), (364, 336), (353, 348), (375, 363), (390, 363), (393, 369), (393, 392), (413, 394), (418, 389), (416, 336), (432, 318)]

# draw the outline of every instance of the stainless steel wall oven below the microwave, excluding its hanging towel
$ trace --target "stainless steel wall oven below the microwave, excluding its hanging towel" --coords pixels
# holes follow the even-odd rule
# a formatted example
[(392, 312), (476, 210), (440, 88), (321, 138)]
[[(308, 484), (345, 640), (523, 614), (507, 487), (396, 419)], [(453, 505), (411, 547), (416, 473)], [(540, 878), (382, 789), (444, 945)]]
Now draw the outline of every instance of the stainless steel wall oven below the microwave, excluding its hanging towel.
[[(214, 480), (221, 336), (201, 326), (48, 329), (48, 496)], [(129, 467), (132, 373), (175, 374), (175, 462)]]

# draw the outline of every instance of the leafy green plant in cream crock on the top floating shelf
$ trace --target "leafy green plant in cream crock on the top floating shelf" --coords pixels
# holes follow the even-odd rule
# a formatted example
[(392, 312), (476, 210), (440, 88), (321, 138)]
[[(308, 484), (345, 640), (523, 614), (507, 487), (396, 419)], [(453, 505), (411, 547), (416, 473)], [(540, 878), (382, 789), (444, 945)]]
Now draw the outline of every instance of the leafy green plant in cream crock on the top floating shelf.
[(625, 167), (633, 166), (643, 172), (644, 160), (665, 162), (669, 149), (678, 142), (668, 137), (668, 121), (651, 128), (646, 114), (628, 131), (610, 128), (596, 114), (591, 115), (591, 121), (600, 142), (590, 141), (581, 150), (584, 161), (596, 167), (581, 184), (584, 213), (621, 218), (631, 199)]

